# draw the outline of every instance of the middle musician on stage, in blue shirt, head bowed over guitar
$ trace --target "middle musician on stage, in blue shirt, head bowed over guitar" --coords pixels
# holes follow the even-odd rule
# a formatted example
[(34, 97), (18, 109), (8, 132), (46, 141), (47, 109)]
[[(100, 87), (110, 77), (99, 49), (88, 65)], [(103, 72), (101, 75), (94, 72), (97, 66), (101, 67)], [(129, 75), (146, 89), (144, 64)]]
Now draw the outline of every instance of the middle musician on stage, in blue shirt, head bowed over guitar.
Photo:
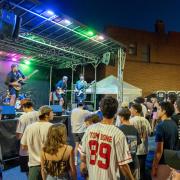
[(68, 77), (63, 76), (62, 80), (58, 81), (58, 83), (56, 84), (56, 96), (61, 106), (64, 105), (64, 95), (67, 90), (67, 81), (68, 81)]

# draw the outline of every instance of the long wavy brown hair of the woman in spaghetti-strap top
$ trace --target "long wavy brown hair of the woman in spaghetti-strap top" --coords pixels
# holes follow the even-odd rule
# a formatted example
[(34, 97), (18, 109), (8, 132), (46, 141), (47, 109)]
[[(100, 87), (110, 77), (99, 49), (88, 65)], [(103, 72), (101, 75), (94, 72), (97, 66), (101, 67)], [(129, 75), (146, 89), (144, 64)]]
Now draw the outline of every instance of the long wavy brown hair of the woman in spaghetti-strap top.
[(67, 130), (64, 124), (52, 125), (49, 128), (43, 150), (45, 153), (54, 155), (58, 149), (67, 143)]

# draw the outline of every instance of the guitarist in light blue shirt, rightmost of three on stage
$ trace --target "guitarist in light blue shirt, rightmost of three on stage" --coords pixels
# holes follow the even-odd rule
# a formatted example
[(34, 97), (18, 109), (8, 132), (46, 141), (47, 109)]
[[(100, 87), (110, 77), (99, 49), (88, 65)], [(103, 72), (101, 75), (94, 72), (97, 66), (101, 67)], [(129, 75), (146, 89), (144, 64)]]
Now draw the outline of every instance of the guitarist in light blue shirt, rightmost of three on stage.
[(80, 74), (79, 81), (75, 85), (75, 100), (77, 103), (84, 102), (86, 99), (87, 82), (84, 80), (84, 75)]

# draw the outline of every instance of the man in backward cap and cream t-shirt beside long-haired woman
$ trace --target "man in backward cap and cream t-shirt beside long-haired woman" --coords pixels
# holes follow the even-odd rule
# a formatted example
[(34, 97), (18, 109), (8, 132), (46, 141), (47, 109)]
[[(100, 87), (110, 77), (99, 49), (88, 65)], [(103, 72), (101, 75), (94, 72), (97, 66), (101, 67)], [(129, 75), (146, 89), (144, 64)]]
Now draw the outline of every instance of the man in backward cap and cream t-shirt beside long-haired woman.
[(39, 110), (39, 121), (29, 125), (21, 138), (23, 150), (29, 153), (29, 180), (42, 180), (40, 157), (41, 149), (46, 142), (49, 128), (52, 126), (53, 111), (49, 106), (42, 106)]

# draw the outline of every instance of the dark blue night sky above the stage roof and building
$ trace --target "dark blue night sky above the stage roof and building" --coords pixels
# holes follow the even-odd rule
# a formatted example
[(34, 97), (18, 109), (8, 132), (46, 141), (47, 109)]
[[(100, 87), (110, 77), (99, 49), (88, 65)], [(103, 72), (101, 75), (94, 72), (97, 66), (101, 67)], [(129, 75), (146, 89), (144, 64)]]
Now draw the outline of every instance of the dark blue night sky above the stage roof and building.
[(154, 31), (156, 19), (165, 22), (166, 31), (180, 31), (180, 0), (39, 1), (98, 31), (108, 25)]

